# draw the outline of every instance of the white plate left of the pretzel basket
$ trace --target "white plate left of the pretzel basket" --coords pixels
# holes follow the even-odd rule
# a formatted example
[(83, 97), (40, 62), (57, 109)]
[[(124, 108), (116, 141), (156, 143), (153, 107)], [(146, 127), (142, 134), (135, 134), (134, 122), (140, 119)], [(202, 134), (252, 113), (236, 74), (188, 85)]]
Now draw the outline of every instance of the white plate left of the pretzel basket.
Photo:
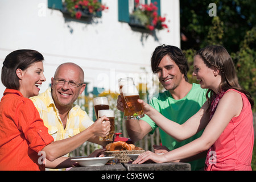
[(114, 156), (100, 157), (100, 158), (77, 158), (71, 159), (79, 163), (80, 166), (104, 166), (109, 159), (115, 158)]

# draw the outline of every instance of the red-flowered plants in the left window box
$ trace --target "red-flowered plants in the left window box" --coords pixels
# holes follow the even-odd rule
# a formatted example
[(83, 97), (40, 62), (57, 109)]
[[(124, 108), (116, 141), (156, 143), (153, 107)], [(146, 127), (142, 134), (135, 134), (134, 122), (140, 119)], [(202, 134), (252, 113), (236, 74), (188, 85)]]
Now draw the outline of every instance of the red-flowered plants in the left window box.
[(80, 19), (82, 13), (96, 15), (98, 11), (108, 9), (98, 0), (65, 0), (64, 6), (71, 13), (71, 16), (76, 16), (76, 19)]

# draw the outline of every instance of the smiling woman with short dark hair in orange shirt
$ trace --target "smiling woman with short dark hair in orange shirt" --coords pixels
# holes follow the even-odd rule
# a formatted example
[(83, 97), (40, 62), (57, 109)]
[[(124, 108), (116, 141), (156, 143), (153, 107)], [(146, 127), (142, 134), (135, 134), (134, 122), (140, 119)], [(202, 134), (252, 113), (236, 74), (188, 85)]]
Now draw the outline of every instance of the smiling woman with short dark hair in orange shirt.
[(110, 131), (108, 118), (102, 117), (74, 137), (53, 142), (29, 99), (38, 95), (46, 81), (43, 60), (38, 51), (21, 49), (3, 61), (1, 80), (6, 90), (0, 102), (0, 170), (43, 170), (60, 163), (59, 168), (71, 167), (70, 160), (59, 157), (90, 137), (105, 137)]

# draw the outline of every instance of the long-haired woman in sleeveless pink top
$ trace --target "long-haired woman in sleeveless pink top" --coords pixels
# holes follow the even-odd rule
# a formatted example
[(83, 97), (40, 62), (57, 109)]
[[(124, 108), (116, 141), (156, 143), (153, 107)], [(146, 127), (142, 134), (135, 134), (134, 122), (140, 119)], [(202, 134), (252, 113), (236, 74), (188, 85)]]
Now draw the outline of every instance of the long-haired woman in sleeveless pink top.
[(134, 163), (149, 159), (157, 163), (185, 162), (207, 151), (205, 170), (251, 170), (254, 101), (239, 85), (229, 53), (222, 46), (200, 49), (194, 57), (193, 76), (201, 88), (208, 88), (208, 101), (183, 125), (163, 117), (142, 100), (138, 102), (144, 113), (176, 140), (187, 139), (204, 129), (201, 137), (164, 155), (146, 151)]

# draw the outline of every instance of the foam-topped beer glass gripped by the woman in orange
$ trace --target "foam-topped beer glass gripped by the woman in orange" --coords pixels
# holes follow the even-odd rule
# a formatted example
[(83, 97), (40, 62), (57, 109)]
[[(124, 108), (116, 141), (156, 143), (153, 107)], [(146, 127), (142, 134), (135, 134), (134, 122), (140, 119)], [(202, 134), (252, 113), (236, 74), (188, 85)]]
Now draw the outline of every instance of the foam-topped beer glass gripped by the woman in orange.
[(100, 141), (113, 141), (113, 137), (114, 137), (114, 133), (115, 133), (115, 113), (114, 113), (114, 110), (108, 109), (108, 110), (99, 110), (98, 111), (98, 118), (101, 118), (104, 115), (107, 118), (109, 118), (110, 131), (109, 131), (109, 135), (107, 135), (106, 137), (100, 137)]

